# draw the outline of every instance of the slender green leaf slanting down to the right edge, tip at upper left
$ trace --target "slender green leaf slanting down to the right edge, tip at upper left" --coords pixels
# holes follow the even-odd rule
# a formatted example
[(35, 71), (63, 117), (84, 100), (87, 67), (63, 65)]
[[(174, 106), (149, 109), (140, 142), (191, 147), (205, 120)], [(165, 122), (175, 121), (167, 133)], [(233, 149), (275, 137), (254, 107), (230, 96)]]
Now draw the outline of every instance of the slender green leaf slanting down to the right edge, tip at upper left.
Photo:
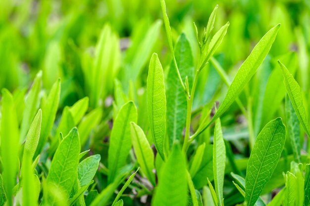
[(302, 124), (305, 132), (307, 133), (308, 137), (310, 137), (310, 129), (309, 123), (307, 119), (307, 113), (305, 107), (303, 105), (303, 98), (302, 98), (302, 91), (299, 84), (296, 82), (294, 77), (290, 74), (287, 68), (278, 61), (280, 68), (282, 70), (284, 76), (284, 85), (288, 96), (292, 102), (293, 108), (296, 112), (296, 115), (299, 119), (299, 122)]

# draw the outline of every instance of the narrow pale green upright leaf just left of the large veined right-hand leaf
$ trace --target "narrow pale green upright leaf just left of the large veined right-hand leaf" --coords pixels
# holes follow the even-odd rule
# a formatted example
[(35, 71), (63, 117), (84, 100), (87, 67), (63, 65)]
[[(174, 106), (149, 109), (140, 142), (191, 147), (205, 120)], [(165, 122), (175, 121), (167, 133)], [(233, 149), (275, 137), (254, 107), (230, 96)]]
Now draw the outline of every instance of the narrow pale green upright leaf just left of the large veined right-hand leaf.
[(213, 175), (217, 202), (222, 206), (226, 164), (226, 149), (220, 119), (215, 121), (213, 140)]

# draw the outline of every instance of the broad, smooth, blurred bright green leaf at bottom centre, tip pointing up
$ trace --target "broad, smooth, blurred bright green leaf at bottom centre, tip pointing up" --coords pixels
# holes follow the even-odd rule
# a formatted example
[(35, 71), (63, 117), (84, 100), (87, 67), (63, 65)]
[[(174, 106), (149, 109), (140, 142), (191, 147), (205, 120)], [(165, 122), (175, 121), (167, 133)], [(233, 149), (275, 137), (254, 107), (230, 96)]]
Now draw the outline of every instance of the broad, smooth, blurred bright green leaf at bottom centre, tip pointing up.
[[(176, 172), (177, 171), (177, 172)], [(154, 206), (186, 206), (186, 160), (179, 145), (174, 145), (166, 160), (152, 200)]]

